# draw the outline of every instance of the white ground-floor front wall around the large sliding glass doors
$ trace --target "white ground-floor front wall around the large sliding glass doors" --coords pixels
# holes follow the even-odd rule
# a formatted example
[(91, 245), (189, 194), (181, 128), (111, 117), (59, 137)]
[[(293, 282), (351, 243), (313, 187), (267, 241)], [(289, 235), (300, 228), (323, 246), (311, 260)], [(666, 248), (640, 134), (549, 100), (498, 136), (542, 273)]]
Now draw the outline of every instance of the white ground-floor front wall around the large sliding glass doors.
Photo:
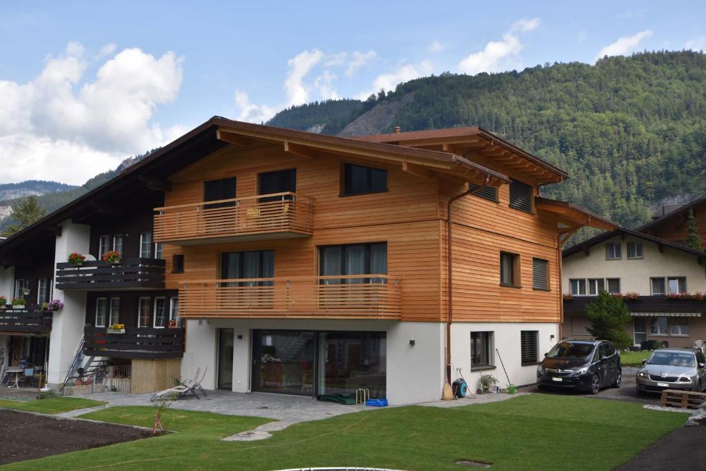
[[(251, 390), (253, 329), (384, 331), (387, 356), (387, 398), (410, 404), (441, 397), (444, 379), (444, 324), (397, 321), (336, 321), (316, 319), (209, 319), (187, 321), (186, 352), (181, 376), (193, 378), (208, 365), (203, 386), (216, 388), (217, 330), (234, 329), (233, 390)], [(239, 339), (238, 336), (241, 335)], [(414, 340), (410, 345), (409, 340)]]

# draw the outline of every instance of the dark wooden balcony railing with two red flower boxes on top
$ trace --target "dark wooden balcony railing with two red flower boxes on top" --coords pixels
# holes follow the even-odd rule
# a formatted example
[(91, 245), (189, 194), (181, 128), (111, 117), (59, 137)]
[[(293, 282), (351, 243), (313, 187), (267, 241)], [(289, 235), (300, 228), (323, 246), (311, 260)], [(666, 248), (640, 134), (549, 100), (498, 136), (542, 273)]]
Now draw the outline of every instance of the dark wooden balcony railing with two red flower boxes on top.
[(132, 258), (120, 263), (56, 263), (59, 290), (159, 290), (164, 288), (164, 260)]

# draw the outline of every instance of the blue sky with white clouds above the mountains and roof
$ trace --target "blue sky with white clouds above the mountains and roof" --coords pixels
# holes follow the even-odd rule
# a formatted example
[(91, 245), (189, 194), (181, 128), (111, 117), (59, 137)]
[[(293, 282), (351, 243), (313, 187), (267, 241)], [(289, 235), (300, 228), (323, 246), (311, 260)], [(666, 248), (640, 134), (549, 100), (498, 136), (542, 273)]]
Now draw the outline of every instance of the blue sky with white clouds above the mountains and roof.
[(213, 116), (642, 50), (706, 50), (706, 2), (0, 3), (0, 183), (83, 184)]

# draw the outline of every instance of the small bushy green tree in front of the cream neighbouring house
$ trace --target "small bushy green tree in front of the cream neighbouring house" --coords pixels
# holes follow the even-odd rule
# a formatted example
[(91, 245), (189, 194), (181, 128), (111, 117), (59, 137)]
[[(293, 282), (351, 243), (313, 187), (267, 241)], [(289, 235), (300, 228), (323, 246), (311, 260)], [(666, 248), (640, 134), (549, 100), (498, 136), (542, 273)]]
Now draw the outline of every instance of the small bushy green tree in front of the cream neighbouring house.
[(586, 305), (586, 313), (590, 322), (587, 330), (594, 338), (610, 340), (617, 348), (633, 343), (627, 332), (630, 311), (623, 299), (602, 291), (594, 302)]

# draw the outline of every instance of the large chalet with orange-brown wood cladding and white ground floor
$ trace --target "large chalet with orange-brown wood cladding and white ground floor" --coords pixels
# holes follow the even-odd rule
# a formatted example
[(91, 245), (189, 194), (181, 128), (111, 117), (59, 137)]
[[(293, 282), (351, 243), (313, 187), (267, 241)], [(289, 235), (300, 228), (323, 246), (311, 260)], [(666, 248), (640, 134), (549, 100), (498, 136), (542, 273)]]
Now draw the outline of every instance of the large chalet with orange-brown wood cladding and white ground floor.
[[(215, 117), (0, 243), (0, 264), (14, 280), (52, 235), (51, 383), (85, 333), (89, 356), (206, 369), (210, 389), (434, 400), (447, 378), (503, 376), (496, 349), (534, 382), (559, 335), (561, 244), (615, 227), (539, 196), (565, 178), (479, 128), (338, 138)], [(119, 248), (115, 266), (65, 263)]]

